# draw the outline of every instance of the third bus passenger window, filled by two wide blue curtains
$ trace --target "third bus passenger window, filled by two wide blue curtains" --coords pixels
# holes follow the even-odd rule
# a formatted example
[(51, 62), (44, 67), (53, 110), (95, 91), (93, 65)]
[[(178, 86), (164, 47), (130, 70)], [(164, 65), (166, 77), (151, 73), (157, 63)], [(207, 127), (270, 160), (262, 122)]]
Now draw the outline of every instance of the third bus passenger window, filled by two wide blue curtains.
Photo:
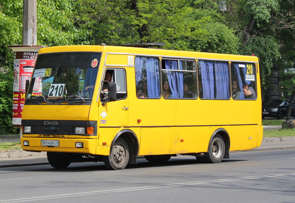
[(198, 85), (201, 99), (229, 99), (229, 63), (198, 60)]

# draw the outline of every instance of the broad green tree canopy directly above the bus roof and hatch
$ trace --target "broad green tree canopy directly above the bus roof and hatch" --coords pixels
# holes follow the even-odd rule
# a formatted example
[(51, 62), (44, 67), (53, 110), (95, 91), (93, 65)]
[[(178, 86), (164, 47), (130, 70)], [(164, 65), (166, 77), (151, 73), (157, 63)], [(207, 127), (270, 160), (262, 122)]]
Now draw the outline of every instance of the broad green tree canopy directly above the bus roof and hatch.
[(238, 38), (212, 0), (78, 2), (90, 44), (162, 42), (167, 49), (237, 53)]

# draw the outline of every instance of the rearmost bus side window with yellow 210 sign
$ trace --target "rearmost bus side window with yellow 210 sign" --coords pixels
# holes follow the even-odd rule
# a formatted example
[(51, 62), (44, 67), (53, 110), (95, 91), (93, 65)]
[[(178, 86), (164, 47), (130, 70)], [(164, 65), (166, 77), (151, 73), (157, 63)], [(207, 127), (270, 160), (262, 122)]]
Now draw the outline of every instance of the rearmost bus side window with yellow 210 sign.
[(256, 99), (256, 66), (253, 63), (231, 63), (232, 98)]

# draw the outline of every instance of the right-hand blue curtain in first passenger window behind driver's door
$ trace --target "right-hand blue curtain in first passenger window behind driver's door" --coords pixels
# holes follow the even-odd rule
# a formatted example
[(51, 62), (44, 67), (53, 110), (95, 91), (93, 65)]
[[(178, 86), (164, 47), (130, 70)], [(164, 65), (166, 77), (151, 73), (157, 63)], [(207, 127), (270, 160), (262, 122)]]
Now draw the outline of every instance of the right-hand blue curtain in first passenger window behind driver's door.
[(160, 80), (159, 80), (159, 60), (156, 58), (146, 58), (147, 69), (147, 85), (148, 85), (148, 97), (159, 98), (160, 97)]

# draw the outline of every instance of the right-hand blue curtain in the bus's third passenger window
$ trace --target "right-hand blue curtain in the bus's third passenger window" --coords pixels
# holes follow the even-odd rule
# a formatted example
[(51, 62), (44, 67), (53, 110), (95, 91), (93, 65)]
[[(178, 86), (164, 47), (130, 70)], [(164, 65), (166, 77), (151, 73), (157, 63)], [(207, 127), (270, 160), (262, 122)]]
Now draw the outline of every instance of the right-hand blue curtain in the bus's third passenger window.
[(216, 99), (229, 99), (228, 63), (215, 61)]

